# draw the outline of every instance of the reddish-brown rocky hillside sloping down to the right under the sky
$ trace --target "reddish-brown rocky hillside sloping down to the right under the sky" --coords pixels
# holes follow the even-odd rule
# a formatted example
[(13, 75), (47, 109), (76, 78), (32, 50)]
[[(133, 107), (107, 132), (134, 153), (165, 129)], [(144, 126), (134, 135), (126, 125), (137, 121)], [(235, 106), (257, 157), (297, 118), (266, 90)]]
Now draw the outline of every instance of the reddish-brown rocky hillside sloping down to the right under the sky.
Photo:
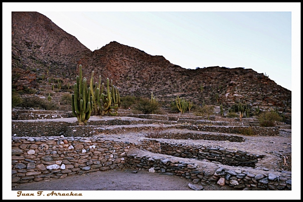
[(222, 103), (229, 107), (241, 101), (253, 108), (276, 107), (291, 113), (291, 91), (252, 69), (189, 70), (171, 64), (163, 56), (148, 55), (115, 41), (92, 52), (44, 15), (12, 12), (12, 77), (16, 88), (22, 89), (26, 82), (33, 87), (35, 80), (42, 77), (72, 84), (78, 64), (82, 64), (88, 80), (92, 70), (95, 81), (98, 75), (102, 82), (107, 77), (113, 79), (121, 96), (149, 97), (153, 91), (167, 103), (179, 95), (191, 98), (197, 105)]

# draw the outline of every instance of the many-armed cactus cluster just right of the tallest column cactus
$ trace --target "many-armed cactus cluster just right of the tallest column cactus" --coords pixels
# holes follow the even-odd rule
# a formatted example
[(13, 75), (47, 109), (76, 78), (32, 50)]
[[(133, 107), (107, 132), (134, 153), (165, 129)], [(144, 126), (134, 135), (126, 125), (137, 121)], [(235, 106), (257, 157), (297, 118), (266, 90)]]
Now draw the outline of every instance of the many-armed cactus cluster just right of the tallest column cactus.
[(104, 116), (110, 114), (112, 116), (118, 115), (118, 107), (120, 107), (120, 95), (119, 89), (112, 84), (109, 85), (109, 78), (106, 79), (106, 94), (103, 93), (104, 83), (101, 85), (101, 76), (99, 76), (99, 83), (94, 83), (94, 71), (92, 71), (90, 88), (94, 89), (91, 91), (92, 99), (94, 101), (94, 110), (96, 115)]

